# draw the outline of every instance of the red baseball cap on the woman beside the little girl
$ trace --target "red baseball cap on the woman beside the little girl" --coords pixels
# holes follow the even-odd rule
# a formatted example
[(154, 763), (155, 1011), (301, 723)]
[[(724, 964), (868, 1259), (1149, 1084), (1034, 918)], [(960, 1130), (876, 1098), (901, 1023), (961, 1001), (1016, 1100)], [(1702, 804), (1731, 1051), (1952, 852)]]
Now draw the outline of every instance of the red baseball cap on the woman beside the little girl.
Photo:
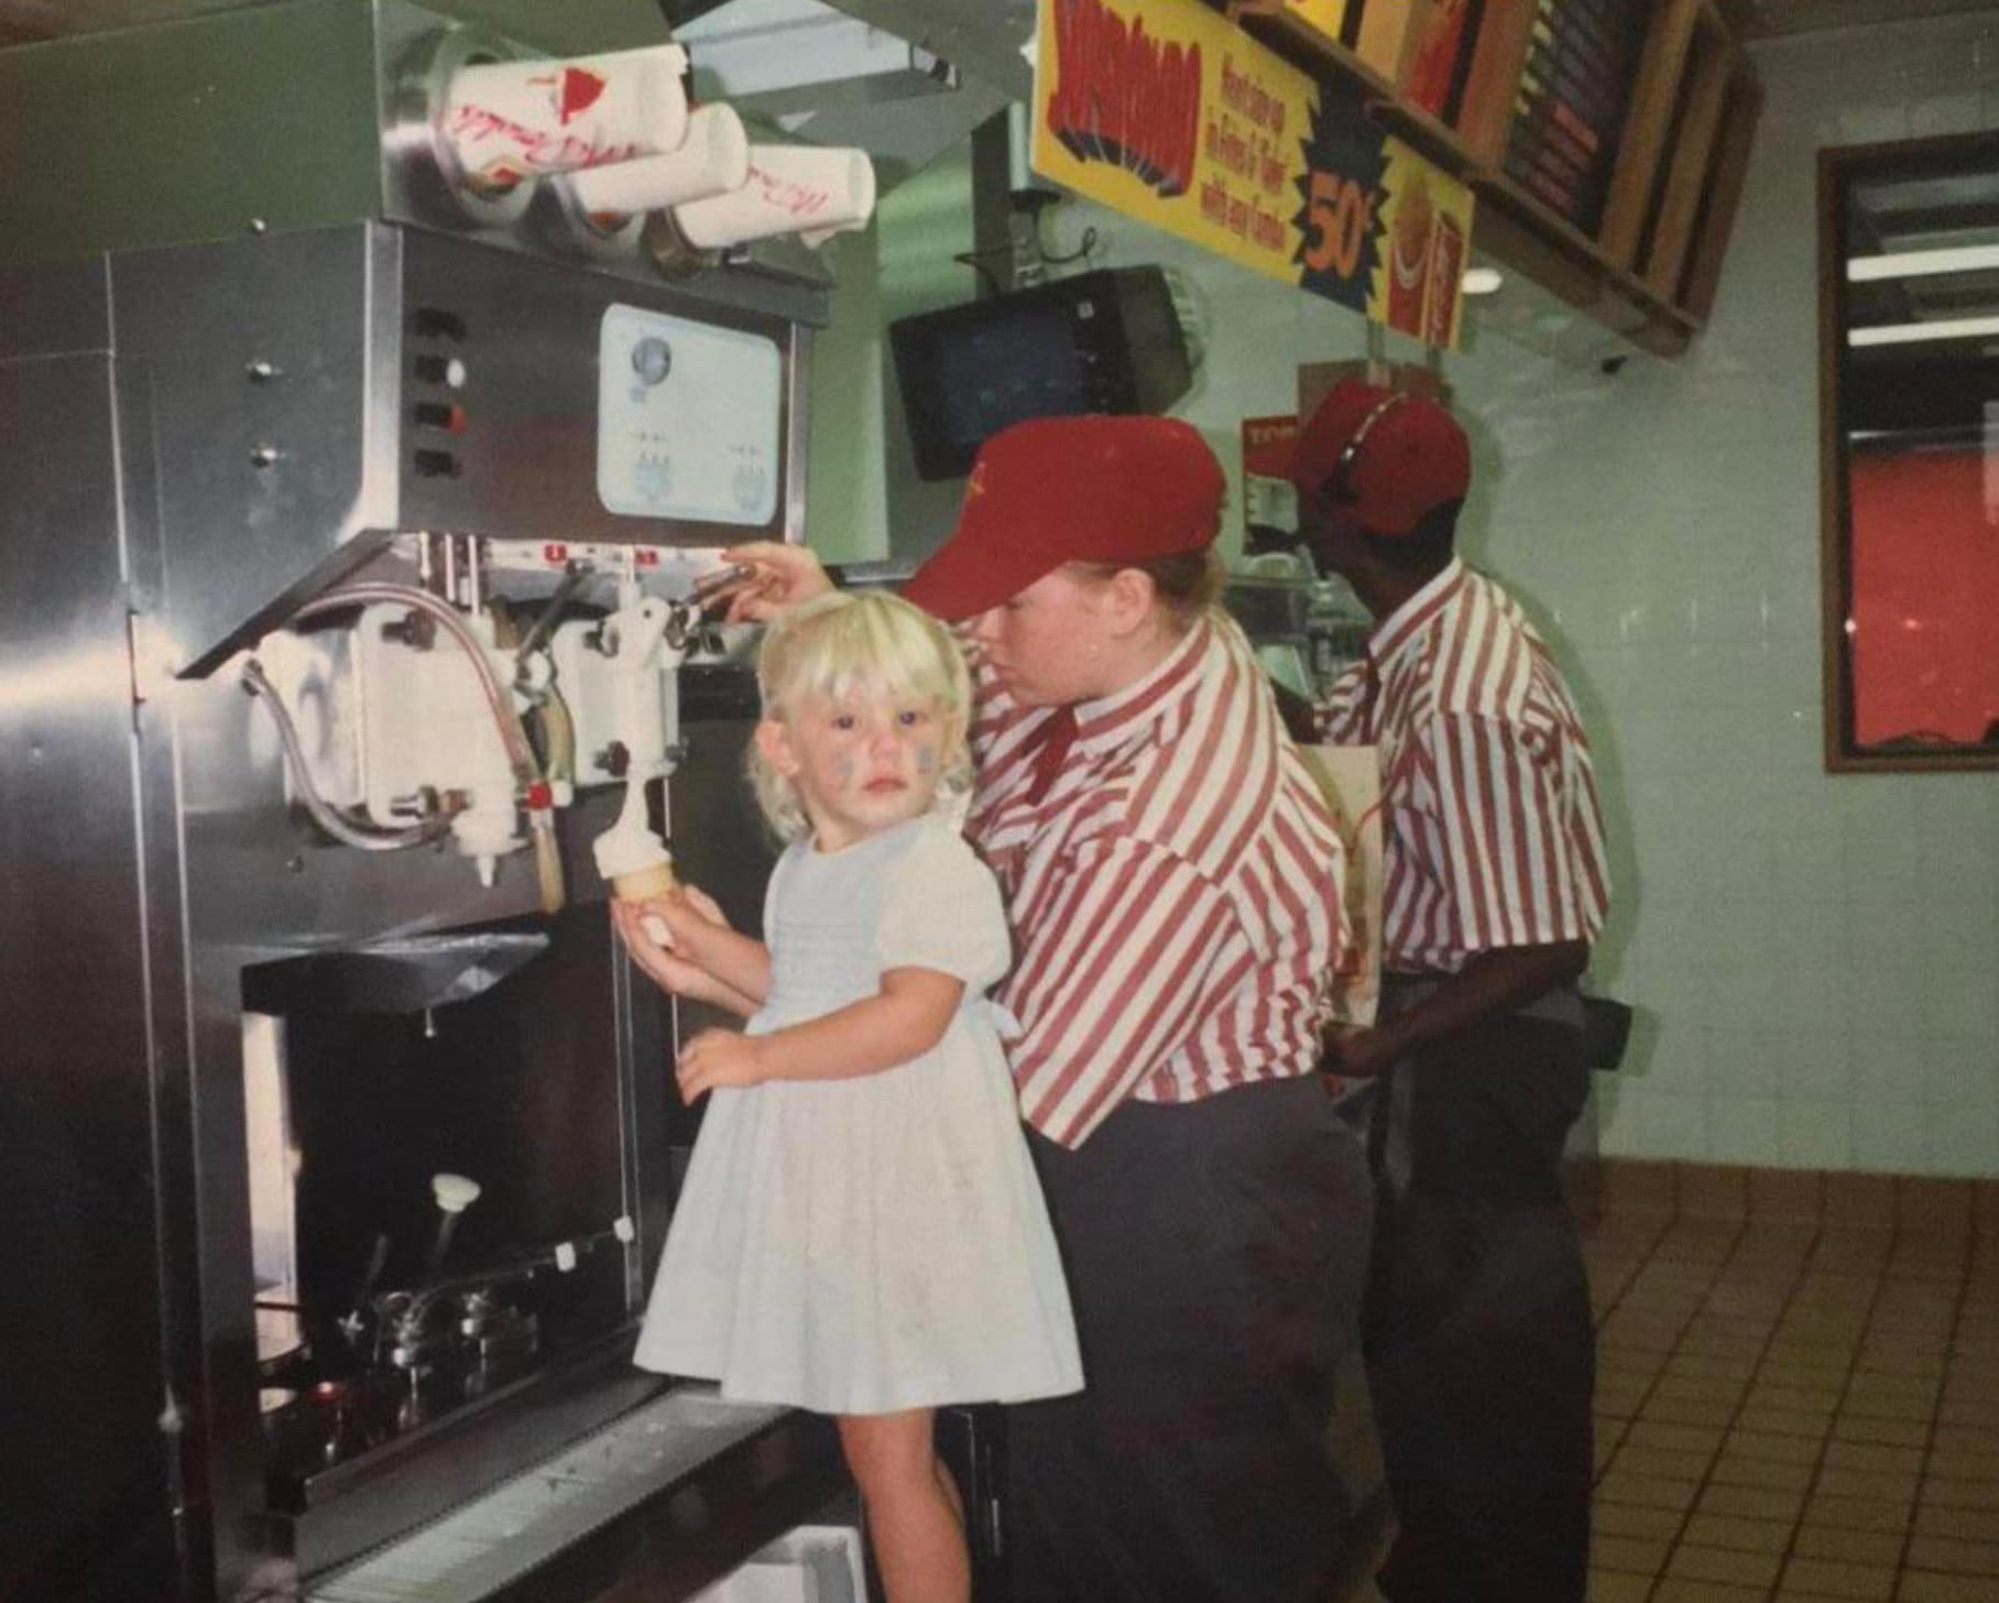
[(902, 594), (956, 624), (1063, 562), (1197, 552), (1221, 528), (1221, 490), (1215, 454), (1177, 418), (1029, 418), (980, 446), (958, 528)]

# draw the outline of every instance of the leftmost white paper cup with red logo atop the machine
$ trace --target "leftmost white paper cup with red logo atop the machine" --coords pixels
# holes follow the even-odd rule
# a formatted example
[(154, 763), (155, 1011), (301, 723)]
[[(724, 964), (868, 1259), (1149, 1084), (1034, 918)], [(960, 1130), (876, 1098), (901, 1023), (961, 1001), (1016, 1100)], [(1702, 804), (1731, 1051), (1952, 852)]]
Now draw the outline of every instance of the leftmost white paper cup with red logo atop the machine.
[(666, 156), (688, 132), (678, 44), (574, 60), (480, 62), (452, 74), (444, 138), (474, 188)]

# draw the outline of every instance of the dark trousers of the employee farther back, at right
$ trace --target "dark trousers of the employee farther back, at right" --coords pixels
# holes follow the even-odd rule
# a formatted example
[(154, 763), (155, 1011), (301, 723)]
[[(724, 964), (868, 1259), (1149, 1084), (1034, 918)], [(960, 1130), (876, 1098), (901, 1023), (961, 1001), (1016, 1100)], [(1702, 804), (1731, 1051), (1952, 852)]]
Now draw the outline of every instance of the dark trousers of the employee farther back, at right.
[(1583, 1603), (1595, 1331), (1559, 1161), (1587, 1083), (1579, 1031), (1521, 1015), (1383, 1083), (1367, 1379), (1391, 1603)]

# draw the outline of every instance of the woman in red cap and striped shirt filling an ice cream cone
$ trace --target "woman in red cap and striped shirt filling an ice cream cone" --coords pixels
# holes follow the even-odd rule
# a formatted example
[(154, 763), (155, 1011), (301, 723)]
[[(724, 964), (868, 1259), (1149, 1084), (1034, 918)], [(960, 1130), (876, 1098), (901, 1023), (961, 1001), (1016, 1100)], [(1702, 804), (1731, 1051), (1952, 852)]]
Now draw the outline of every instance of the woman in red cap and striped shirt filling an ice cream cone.
[[(906, 590), (978, 658), (966, 835), (1085, 1369), (1007, 1411), (1015, 1603), (1321, 1603), (1343, 1557), (1323, 1443), (1369, 1187), (1311, 1075), (1339, 841), (1213, 606), (1221, 490), (1181, 422), (1015, 424)], [(730, 556), (746, 618), (828, 588), (794, 546)]]

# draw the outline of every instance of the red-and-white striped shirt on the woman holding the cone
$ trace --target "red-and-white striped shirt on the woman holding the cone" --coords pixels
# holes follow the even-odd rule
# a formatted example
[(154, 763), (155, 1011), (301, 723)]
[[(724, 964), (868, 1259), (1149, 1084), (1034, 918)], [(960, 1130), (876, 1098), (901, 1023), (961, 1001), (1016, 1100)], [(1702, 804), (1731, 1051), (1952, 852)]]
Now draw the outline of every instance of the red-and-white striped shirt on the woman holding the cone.
[(998, 999), (1021, 1023), (1021, 1115), (1065, 1147), (1125, 1097), (1307, 1073), (1341, 933), (1339, 835), (1229, 618), (1073, 712), (1031, 800), (1057, 714), (982, 682), (966, 821), (1013, 927)]

